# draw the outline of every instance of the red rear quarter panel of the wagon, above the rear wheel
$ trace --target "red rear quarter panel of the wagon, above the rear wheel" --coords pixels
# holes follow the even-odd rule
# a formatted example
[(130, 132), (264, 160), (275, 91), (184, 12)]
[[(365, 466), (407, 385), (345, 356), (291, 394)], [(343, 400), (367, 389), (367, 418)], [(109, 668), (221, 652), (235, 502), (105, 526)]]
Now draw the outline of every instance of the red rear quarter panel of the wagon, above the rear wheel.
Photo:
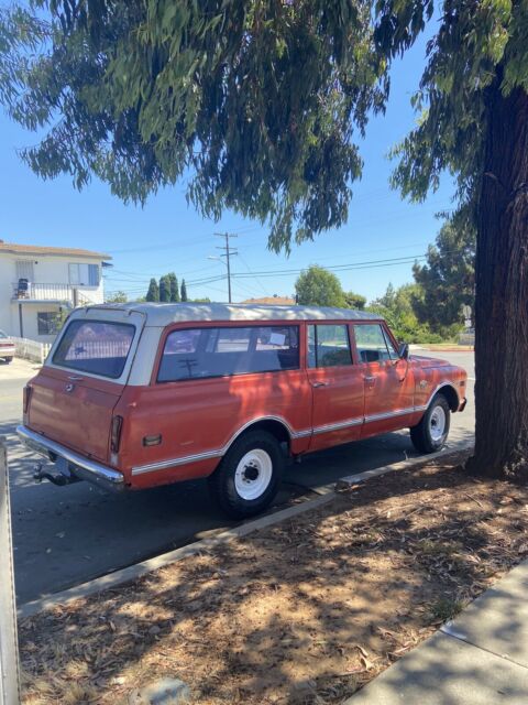
[[(152, 487), (210, 475), (220, 457), (141, 474), (132, 468), (220, 453), (253, 420), (277, 416), (308, 429), (311, 389), (301, 370), (128, 387), (116, 412), (124, 417), (120, 468), (133, 487)], [(160, 445), (143, 445), (145, 436), (156, 435)]]

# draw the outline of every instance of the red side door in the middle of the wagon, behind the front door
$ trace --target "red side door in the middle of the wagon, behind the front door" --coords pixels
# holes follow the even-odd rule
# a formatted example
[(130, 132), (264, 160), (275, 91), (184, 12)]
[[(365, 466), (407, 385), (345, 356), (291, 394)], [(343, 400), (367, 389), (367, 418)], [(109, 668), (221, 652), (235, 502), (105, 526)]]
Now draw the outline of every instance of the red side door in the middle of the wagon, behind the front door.
[(312, 388), (310, 451), (360, 437), (363, 371), (353, 362), (349, 326), (307, 325), (307, 375)]

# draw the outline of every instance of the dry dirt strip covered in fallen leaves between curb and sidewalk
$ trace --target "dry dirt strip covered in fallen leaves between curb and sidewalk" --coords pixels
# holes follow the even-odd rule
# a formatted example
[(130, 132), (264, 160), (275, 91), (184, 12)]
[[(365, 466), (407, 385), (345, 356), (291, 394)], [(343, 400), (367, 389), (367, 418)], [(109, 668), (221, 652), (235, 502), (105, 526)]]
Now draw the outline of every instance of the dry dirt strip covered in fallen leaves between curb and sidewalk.
[(20, 625), (26, 705), (341, 703), (528, 555), (528, 488), (460, 456)]

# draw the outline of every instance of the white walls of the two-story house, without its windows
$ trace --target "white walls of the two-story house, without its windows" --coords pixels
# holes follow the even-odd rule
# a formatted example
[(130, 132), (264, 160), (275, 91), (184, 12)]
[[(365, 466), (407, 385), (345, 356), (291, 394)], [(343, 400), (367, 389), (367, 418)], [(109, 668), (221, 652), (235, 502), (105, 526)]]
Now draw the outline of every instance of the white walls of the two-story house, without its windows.
[[(35, 254), (29, 257), (26, 254), (13, 254), (10, 252), (0, 252), (0, 328), (11, 335), (20, 336), (19, 325), (19, 305), (12, 303), (13, 284), (16, 282), (16, 260), (30, 260), (33, 262), (33, 282), (34, 284), (64, 284), (70, 285), (69, 264), (77, 263), (81, 267), (82, 284), (75, 284), (82, 300), (89, 300), (90, 303), (99, 304), (105, 301), (103, 281), (101, 260), (96, 258), (74, 258), (55, 254)], [(88, 286), (84, 284), (87, 279), (86, 264), (98, 264), (99, 267), (99, 285)], [(46, 297), (51, 297), (50, 294)], [(40, 311), (58, 311), (56, 304), (22, 304), (24, 315), (24, 337), (33, 340), (48, 343), (54, 336), (38, 336), (36, 326), (36, 314)]]

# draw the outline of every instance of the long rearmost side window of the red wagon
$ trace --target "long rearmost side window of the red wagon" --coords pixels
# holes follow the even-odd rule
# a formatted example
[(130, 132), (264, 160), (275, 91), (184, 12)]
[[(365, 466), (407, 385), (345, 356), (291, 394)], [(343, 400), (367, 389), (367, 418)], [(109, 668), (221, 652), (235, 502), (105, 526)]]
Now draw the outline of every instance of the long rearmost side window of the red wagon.
[(158, 382), (299, 367), (298, 326), (185, 328), (167, 336)]

